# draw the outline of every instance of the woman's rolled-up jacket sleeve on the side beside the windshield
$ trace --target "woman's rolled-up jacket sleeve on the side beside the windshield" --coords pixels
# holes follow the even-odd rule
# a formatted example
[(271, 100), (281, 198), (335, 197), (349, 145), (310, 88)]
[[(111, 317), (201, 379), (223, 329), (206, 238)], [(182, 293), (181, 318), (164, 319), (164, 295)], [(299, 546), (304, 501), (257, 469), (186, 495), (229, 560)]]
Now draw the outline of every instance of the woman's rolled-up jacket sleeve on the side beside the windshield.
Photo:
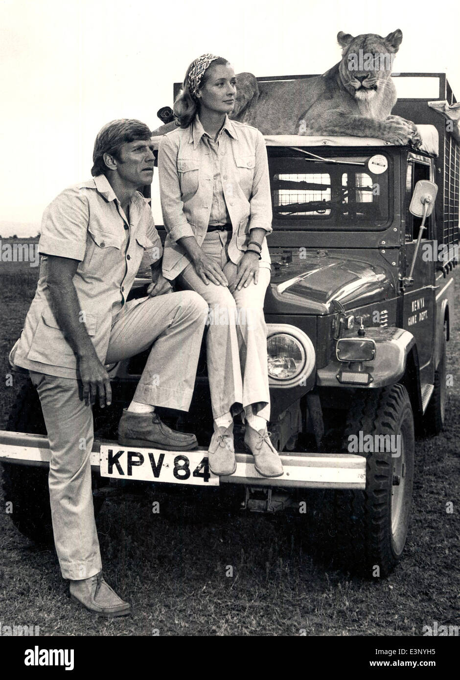
[(268, 170), (267, 148), (261, 132), (257, 131), (255, 146), (254, 180), (250, 197), (249, 228), (265, 229), (267, 234), (272, 229), (272, 194), (270, 191), (270, 175)]

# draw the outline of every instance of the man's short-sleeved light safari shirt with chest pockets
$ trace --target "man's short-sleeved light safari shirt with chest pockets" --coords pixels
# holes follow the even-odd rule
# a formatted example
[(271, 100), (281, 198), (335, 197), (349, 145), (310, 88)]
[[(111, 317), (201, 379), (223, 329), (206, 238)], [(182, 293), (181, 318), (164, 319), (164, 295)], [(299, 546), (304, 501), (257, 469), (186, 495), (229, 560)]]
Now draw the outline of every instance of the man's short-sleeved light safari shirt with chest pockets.
[(80, 262), (73, 277), (80, 321), (104, 363), (112, 317), (125, 304), (139, 265), (153, 264), (162, 254), (150, 206), (135, 192), (128, 222), (105, 175), (71, 186), (44, 211), (39, 252), (37, 290), (13, 360), (24, 369), (77, 378), (76, 356), (50, 305), (47, 256)]

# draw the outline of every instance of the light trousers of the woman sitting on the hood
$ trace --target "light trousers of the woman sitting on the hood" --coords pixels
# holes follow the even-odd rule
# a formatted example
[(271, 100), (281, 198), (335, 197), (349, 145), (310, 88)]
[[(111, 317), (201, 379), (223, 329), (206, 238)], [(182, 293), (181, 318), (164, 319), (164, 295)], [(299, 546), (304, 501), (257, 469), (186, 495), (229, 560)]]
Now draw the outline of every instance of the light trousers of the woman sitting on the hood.
[[(214, 258), (229, 283), (237, 267), (227, 255), (228, 232), (212, 231), (201, 245)], [(212, 413), (214, 418), (229, 411), (235, 415), (244, 407), (265, 420), (270, 416), (270, 396), (267, 372), (267, 328), (263, 316), (265, 291), (270, 281), (270, 269), (259, 267), (259, 282), (235, 290), (227, 286), (204, 284), (193, 264), (182, 271), (178, 279), (182, 286), (196, 290), (209, 305), (207, 363)], [(232, 408), (233, 407), (233, 408)]]

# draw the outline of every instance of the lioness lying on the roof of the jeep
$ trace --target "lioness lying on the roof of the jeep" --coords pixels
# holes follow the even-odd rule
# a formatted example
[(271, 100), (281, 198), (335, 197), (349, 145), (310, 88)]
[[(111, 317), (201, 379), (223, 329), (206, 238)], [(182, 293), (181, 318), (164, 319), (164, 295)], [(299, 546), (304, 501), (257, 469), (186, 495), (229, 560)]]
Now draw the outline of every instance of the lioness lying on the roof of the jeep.
[(340, 31), (337, 39), (342, 61), (321, 76), (258, 83), (252, 73), (239, 73), (231, 118), (264, 135), (357, 135), (420, 146), (414, 123), (390, 115), (397, 100), (391, 67), (402, 32)]

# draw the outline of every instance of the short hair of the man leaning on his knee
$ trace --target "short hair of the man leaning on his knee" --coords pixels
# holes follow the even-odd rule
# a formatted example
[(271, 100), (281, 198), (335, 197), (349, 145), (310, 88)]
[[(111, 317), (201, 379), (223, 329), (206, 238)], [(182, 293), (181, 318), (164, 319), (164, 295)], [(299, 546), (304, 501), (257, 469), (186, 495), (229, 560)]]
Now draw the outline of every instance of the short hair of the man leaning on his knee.
[(91, 175), (103, 175), (108, 167), (104, 163), (103, 155), (110, 154), (120, 160), (120, 147), (136, 139), (150, 139), (152, 133), (145, 123), (133, 118), (119, 118), (111, 120), (97, 133), (93, 151), (93, 167)]

